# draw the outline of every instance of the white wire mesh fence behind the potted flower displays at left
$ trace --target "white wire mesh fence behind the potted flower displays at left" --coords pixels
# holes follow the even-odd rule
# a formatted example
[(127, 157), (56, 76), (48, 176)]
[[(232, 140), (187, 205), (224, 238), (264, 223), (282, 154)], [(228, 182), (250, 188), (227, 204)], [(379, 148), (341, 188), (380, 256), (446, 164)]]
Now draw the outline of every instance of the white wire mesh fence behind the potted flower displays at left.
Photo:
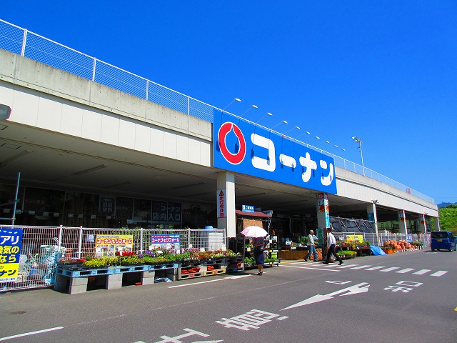
[(149, 250), (152, 234), (179, 234), (180, 248), (219, 250), (226, 246), (223, 229), (89, 229), (84, 227), (27, 227), (23, 229), (19, 274), (16, 282), (0, 283), (0, 292), (49, 287), (54, 284), (60, 258), (95, 257), (95, 235), (132, 235), (133, 251)]

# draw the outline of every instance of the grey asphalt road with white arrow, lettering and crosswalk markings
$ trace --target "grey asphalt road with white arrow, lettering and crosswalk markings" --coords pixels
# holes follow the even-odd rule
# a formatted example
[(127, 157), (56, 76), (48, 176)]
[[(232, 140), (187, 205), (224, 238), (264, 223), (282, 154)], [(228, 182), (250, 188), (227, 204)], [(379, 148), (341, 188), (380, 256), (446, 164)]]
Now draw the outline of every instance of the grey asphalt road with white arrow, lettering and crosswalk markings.
[(263, 276), (1, 294), (0, 342), (457, 342), (456, 262), (457, 252), (420, 250), (341, 267), (281, 262)]

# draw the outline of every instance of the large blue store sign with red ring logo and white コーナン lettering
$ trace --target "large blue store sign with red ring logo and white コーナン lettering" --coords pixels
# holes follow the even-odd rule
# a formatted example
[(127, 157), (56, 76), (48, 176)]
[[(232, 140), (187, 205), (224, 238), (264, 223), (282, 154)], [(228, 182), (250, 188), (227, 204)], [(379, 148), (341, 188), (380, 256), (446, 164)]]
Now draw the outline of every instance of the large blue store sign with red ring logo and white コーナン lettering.
[(221, 111), (213, 130), (216, 168), (336, 194), (333, 157)]

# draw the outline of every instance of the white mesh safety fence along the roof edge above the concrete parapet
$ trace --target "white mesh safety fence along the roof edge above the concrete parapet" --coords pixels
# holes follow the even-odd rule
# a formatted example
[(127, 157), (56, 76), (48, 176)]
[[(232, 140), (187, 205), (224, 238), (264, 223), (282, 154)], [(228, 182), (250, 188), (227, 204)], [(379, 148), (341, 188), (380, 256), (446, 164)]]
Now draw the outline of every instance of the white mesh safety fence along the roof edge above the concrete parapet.
[[(217, 109), (215, 106), (205, 104), (203, 101), (199, 101), (191, 96), (179, 93), (179, 91), (174, 91), (166, 86), (161, 86), (154, 81), (132, 74), (129, 71), (120, 69), (104, 61), (100, 61), (95, 57), (83, 54), (69, 48), (68, 46), (59, 44), (56, 41), (51, 41), (51, 39), (46, 39), (39, 34), (34, 34), (27, 29), (22, 29), (19, 26), (10, 24), (1, 19), (0, 49), (20, 54), (21, 56), (25, 56), (29, 59), (34, 59), (35, 61), (39, 61), (43, 64), (54, 66), (55, 68), (67, 71), (71, 74), (81, 76), (84, 79), (104, 84), (105, 86), (109, 86), (113, 89), (138, 96), (141, 99), (152, 101), (156, 104), (188, 114), (189, 116), (195, 116), (196, 118), (210, 121), (211, 123), (213, 122), (214, 110), (216, 109), (222, 111), (221, 109)], [(234, 114), (231, 115), (236, 116)], [(247, 119), (240, 117), (238, 117), (238, 119), (248, 121)], [(271, 131), (273, 134), (283, 136), (283, 134), (265, 128), (264, 126), (256, 123), (251, 122), (251, 124), (263, 127), (264, 129)], [(305, 144), (290, 137), (288, 138), (296, 141), (298, 144), (303, 144), (310, 146), (312, 149), (316, 149), (309, 144)], [(404, 184), (385, 177), (378, 172), (374, 172), (371, 169), (343, 159), (335, 154), (323, 151), (322, 149), (316, 150), (320, 150), (323, 154), (327, 154), (328, 156), (333, 156), (335, 164), (338, 167), (347, 169), (357, 174), (363, 174), (366, 177), (376, 179), (379, 182), (388, 184), (391, 187), (400, 189), (403, 192), (412, 194), (418, 198), (426, 200), (427, 202), (431, 202), (432, 204), (435, 203), (433, 198), (428, 197), (421, 192), (417, 192), (410, 187), (406, 187)]]

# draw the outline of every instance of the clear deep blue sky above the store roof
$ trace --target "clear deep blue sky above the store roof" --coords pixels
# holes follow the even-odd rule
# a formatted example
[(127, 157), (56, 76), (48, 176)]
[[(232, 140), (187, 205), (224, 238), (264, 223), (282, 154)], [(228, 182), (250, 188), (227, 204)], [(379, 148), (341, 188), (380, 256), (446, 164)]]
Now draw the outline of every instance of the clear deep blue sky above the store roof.
[[(2, 1), (0, 19), (457, 202), (457, 1)], [(306, 135), (307, 136), (307, 135)], [(303, 136), (301, 136), (303, 138)], [(338, 150), (333, 147), (346, 149)]]

